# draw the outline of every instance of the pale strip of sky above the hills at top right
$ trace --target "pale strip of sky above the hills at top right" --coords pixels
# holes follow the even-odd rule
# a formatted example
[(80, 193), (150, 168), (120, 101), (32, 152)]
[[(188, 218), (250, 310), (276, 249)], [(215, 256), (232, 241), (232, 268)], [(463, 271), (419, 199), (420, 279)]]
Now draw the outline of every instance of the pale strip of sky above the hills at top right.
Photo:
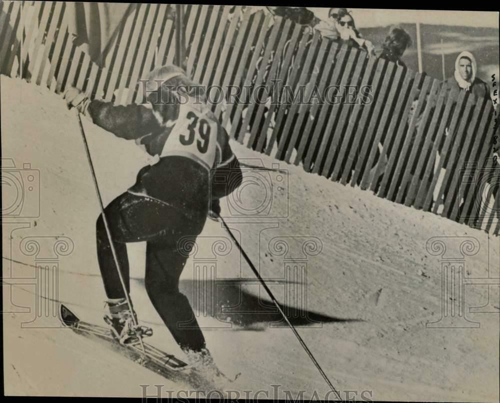
[[(321, 19), (328, 18), (328, 8), (307, 7)], [(396, 10), (348, 8), (358, 28), (386, 26), (398, 23), (477, 26), (498, 29), (499, 13), (495, 11)]]

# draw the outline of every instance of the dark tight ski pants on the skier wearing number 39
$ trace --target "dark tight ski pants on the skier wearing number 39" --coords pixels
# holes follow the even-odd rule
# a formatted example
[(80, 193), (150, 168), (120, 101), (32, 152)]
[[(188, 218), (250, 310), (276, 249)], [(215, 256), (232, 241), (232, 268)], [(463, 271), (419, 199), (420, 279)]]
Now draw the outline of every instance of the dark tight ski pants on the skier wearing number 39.
[[(127, 292), (130, 280), (125, 242), (146, 241), (144, 283), (152, 305), (181, 349), (204, 348), (205, 340), (189, 301), (178, 289), (189, 247), (179, 249), (177, 242), (184, 236), (195, 238), (203, 229), (206, 215), (186, 219), (179, 209), (128, 192), (115, 198), (104, 212)], [(106, 295), (110, 299), (124, 298), (102, 215), (97, 219), (96, 236)]]

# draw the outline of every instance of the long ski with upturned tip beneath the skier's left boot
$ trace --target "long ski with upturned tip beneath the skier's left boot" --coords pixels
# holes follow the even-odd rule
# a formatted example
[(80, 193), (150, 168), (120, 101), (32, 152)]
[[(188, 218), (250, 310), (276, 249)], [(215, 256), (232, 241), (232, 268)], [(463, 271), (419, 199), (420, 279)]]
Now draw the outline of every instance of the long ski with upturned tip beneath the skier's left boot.
[(174, 355), (167, 354), (147, 343), (143, 343), (144, 351), (142, 351), (140, 344), (120, 344), (111, 336), (108, 328), (80, 320), (62, 304), (60, 305), (60, 320), (65, 327), (70, 328), (75, 333), (107, 342), (113, 350), (165, 378), (170, 379), (173, 372), (187, 370), (190, 367)]

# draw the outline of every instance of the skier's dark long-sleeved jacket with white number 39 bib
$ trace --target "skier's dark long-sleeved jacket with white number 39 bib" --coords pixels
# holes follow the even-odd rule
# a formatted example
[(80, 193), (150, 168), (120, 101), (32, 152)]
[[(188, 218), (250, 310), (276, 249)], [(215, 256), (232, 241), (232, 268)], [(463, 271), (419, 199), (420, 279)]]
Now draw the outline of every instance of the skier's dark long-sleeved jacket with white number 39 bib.
[(228, 195), (241, 183), (229, 136), (202, 102), (155, 104), (153, 108), (92, 100), (86, 114), (96, 125), (135, 140), (156, 156), (156, 163), (140, 169), (130, 193), (160, 200), (187, 216), (206, 217), (212, 200)]

